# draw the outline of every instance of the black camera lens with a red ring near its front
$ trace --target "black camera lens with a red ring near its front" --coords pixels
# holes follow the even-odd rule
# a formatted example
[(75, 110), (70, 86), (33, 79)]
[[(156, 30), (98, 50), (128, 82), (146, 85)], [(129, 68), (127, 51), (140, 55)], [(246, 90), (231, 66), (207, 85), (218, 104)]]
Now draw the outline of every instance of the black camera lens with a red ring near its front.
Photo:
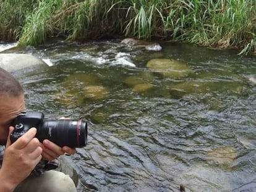
[(87, 122), (83, 120), (46, 120), (36, 132), (36, 138), (48, 139), (58, 146), (82, 148), (87, 144)]

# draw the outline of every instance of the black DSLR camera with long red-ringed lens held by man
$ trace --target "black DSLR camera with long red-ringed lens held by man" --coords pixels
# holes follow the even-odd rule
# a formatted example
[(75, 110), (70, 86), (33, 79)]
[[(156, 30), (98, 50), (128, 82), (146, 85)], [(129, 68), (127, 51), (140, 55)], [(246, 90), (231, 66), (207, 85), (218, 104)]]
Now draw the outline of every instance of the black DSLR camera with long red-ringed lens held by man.
[(14, 131), (10, 135), (14, 143), (30, 128), (36, 128), (35, 137), (40, 142), (47, 139), (58, 146), (70, 148), (83, 148), (87, 144), (87, 122), (83, 120), (44, 120), (45, 115), (41, 112), (22, 112), (12, 123)]

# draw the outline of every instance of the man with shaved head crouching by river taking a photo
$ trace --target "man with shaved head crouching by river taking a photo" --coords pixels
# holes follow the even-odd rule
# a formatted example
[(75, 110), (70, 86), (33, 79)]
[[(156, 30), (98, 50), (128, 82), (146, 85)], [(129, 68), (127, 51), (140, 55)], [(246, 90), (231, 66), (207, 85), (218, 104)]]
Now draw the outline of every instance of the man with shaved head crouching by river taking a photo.
[[(24, 110), (20, 83), (0, 68), (0, 191), (76, 191), (68, 175), (53, 169), (54, 159), (75, 149), (59, 147), (49, 140), (40, 143), (36, 128), (30, 128), (11, 144), (12, 120)], [(4, 152), (4, 154), (3, 154)]]

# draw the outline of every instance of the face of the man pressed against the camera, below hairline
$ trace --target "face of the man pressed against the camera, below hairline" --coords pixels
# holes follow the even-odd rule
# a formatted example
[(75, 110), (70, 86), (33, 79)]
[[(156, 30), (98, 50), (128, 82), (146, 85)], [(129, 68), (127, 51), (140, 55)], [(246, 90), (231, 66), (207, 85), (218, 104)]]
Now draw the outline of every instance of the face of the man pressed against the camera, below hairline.
[(12, 120), (24, 110), (24, 95), (17, 97), (0, 95), (0, 144), (6, 144)]

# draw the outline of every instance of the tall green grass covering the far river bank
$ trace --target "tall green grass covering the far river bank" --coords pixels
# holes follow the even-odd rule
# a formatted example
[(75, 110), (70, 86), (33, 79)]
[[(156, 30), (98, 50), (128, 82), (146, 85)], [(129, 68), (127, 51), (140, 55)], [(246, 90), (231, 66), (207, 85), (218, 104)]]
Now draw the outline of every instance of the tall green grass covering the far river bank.
[(0, 39), (36, 45), (52, 36), (124, 35), (256, 51), (255, 0), (5, 0)]

